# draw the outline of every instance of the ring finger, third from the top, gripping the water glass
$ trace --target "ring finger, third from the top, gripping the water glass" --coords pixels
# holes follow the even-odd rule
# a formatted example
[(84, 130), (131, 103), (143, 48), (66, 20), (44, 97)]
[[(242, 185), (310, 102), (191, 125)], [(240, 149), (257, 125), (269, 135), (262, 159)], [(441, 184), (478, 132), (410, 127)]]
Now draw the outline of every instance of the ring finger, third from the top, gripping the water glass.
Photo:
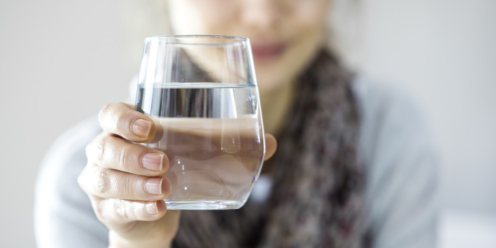
[(87, 165), (78, 177), (80, 187), (101, 198), (157, 201), (170, 194), (171, 183), (165, 177), (147, 177)]

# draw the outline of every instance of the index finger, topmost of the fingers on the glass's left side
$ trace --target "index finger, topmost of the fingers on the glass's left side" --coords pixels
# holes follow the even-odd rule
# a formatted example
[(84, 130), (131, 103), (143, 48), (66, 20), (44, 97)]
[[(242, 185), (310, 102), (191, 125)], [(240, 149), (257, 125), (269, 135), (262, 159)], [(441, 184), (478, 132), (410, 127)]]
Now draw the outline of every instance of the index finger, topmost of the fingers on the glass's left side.
[(153, 121), (124, 103), (106, 105), (98, 120), (105, 131), (135, 142), (149, 141), (155, 134)]

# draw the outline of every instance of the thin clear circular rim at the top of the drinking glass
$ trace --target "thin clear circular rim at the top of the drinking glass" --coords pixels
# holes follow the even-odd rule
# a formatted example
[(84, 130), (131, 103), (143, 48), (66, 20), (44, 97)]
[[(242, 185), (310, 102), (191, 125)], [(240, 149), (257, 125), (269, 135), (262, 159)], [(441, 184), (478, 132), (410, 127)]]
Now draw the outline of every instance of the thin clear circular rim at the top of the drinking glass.
[[(203, 39), (219, 39), (219, 42), (178, 42), (177, 40), (182, 38), (203, 38)], [(248, 42), (249, 38), (235, 35), (223, 35), (223, 34), (180, 34), (180, 35), (160, 35), (146, 37), (144, 42), (149, 43), (153, 40), (166, 41), (167, 44), (184, 44), (184, 45), (225, 45), (233, 43), (243, 43)], [(224, 41), (223, 41), (224, 40)]]

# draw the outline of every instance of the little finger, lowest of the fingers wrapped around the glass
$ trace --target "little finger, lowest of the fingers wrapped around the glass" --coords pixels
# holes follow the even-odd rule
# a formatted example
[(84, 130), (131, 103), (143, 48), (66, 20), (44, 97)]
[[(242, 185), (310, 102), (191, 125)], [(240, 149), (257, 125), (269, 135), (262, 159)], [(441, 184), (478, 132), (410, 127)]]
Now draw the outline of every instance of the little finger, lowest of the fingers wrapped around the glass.
[(132, 221), (155, 221), (167, 211), (164, 201), (105, 199), (90, 196), (97, 218), (109, 227)]

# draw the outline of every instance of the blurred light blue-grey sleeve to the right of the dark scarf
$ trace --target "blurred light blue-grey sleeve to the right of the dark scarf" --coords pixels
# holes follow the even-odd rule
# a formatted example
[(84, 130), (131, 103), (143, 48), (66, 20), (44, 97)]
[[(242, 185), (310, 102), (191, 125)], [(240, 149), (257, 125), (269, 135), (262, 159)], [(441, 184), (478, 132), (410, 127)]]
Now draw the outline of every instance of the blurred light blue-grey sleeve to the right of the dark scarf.
[(436, 247), (438, 163), (425, 118), (391, 86), (357, 81), (374, 248)]

